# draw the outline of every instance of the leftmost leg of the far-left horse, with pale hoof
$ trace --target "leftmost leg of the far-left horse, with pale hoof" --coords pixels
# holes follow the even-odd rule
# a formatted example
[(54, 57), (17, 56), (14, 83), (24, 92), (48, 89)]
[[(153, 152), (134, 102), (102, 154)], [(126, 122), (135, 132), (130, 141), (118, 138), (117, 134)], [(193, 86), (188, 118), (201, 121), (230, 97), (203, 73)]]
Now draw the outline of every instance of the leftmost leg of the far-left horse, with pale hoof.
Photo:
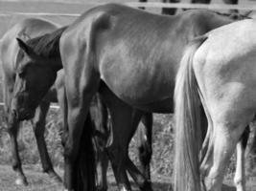
[(8, 86), (9, 80), (7, 80), (4, 76), (4, 101), (5, 101), (5, 114), (7, 120), (7, 129), (10, 136), (10, 150), (12, 155), (12, 169), (16, 172), (16, 180), (15, 183), (17, 185), (28, 185), (27, 178), (25, 177), (21, 160), (18, 155), (18, 143), (17, 143), (17, 133), (19, 129), (20, 122), (15, 119), (11, 109), (11, 102), (12, 102), (12, 88)]

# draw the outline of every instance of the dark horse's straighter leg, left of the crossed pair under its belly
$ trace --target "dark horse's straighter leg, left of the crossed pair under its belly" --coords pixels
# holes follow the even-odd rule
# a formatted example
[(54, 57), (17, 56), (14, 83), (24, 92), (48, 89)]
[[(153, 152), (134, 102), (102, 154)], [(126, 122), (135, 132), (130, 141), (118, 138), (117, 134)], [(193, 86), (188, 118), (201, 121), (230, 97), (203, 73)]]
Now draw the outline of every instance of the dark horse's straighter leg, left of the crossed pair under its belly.
[[(126, 104), (107, 105), (111, 115), (111, 141), (106, 145), (108, 158), (120, 191), (131, 191), (127, 175), (127, 136), (131, 127), (132, 109)], [(125, 143), (124, 143), (125, 142)]]

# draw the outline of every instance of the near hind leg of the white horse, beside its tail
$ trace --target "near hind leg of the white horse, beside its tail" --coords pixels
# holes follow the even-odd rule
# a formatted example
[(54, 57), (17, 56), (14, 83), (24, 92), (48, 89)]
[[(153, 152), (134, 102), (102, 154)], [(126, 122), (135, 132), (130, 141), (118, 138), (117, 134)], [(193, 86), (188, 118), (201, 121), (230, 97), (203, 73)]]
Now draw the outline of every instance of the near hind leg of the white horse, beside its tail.
[[(221, 191), (224, 170), (244, 132), (244, 124), (250, 121), (249, 115), (242, 114), (239, 117), (229, 117), (231, 120), (224, 118), (213, 121), (213, 135), (200, 167), (203, 186), (207, 191)], [(232, 120), (234, 118), (240, 118), (240, 121)]]

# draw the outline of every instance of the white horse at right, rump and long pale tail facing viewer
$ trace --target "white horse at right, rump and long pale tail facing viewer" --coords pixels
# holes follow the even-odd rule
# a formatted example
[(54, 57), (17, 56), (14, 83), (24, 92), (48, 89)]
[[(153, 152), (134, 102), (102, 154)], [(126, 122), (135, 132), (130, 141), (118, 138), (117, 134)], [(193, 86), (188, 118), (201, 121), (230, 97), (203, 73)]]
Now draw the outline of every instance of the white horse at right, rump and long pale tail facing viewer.
[[(255, 117), (255, 29), (255, 20), (232, 23), (198, 37), (184, 52), (175, 89), (177, 191), (221, 191), (228, 160)], [(195, 139), (202, 127), (200, 105), (208, 120), (202, 146)], [(204, 155), (199, 159), (200, 148)]]

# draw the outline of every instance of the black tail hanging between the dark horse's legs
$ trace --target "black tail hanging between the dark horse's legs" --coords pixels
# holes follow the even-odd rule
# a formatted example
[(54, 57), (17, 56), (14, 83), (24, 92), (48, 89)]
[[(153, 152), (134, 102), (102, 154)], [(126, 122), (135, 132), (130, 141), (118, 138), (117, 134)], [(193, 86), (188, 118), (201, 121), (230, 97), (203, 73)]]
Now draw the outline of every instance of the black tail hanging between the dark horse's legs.
[(96, 190), (96, 162), (93, 146), (93, 129), (95, 127), (93, 125), (90, 113), (88, 113), (81, 134), (80, 150), (76, 162), (75, 190)]

